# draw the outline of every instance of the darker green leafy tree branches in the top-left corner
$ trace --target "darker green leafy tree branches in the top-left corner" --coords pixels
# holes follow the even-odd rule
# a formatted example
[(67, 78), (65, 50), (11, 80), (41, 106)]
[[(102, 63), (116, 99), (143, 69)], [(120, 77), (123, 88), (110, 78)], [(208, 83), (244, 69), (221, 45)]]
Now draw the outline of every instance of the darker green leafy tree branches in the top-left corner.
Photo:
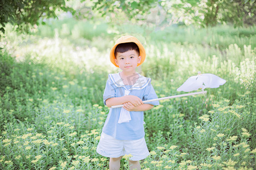
[(56, 9), (73, 12), (65, 0), (0, 0), (0, 32), (5, 33), (6, 23), (28, 31), (30, 25), (39, 24), (40, 18), (57, 18)]

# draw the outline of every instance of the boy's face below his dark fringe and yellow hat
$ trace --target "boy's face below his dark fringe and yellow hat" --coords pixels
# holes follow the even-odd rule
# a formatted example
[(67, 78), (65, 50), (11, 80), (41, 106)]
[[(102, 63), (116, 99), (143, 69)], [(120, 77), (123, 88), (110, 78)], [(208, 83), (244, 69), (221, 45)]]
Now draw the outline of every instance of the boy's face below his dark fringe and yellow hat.
[(119, 68), (127, 73), (134, 73), (138, 63), (141, 62), (141, 56), (135, 50), (129, 50), (124, 53), (117, 53), (115, 63)]

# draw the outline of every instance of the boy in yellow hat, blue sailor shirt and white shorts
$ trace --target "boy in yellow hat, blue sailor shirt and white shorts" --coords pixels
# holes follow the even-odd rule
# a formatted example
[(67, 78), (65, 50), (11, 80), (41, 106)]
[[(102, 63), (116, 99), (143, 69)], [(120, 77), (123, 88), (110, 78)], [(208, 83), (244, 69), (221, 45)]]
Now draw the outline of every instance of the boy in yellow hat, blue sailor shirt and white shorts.
[[(151, 79), (136, 73), (146, 57), (143, 45), (133, 36), (123, 36), (110, 50), (110, 61), (122, 71), (109, 74), (104, 91), (104, 104), (110, 110), (106, 118), (97, 152), (109, 157), (109, 169), (120, 168), (123, 155), (132, 155), (130, 169), (141, 169), (139, 160), (149, 155), (144, 139), (143, 111), (158, 105), (142, 100), (156, 99)], [(123, 104), (122, 108), (111, 107)]]

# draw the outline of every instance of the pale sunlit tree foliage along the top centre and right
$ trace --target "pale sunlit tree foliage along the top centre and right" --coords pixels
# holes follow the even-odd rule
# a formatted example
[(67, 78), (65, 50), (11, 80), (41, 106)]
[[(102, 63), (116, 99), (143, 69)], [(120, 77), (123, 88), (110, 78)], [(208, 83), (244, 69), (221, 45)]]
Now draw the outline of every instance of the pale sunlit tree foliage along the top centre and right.
[[(86, 0), (82, 0), (86, 1)], [(201, 27), (218, 23), (233, 23), (234, 26), (255, 24), (256, 6), (254, 0), (94, 0), (93, 9), (102, 16), (110, 12), (123, 11), (130, 19), (145, 19), (150, 9), (158, 7), (165, 13), (163, 22), (168, 24), (196, 24)]]

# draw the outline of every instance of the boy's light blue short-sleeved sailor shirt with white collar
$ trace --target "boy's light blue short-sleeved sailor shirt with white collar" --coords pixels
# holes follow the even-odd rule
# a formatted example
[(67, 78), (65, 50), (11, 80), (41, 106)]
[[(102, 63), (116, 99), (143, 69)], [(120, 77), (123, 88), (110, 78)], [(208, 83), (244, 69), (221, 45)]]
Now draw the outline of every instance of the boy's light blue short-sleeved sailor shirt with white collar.
[[(133, 86), (125, 86), (119, 73), (109, 74), (103, 95), (104, 104), (112, 97), (122, 97), (125, 90), (129, 90), (129, 95), (138, 96), (142, 101), (157, 99), (155, 90), (151, 85), (151, 79), (139, 75), (137, 82)], [(152, 101), (147, 104), (159, 105), (159, 101)], [(121, 108), (110, 108), (102, 131), (118, 140), (137, 140), (144, 137), (143, 111), (130, 112), (130, 122), (118, 124)]]

